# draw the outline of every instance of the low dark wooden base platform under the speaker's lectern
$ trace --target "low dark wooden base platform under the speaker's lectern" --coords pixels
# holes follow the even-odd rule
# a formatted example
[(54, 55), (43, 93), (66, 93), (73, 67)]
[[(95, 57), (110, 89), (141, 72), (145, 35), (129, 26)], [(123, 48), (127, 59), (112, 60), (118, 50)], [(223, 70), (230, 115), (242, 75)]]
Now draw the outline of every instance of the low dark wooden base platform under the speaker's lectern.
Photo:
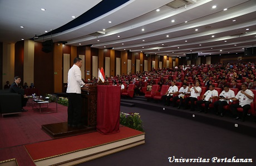
[(46, 132), (53, 139), (76, 136), (79, 134), (86, 134), (96, 132), (96, 127), (68, 127), (67, 122), (52, 123), (42, 125), (42, 130)]

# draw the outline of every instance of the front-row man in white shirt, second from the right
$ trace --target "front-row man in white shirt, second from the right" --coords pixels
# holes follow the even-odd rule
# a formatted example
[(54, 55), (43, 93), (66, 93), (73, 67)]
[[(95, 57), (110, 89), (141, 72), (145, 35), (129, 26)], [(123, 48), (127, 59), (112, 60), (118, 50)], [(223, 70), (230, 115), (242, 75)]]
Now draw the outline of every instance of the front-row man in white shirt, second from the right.
[(229, 104), (229, 100), (235, 97), (235, 92), (231, 89), (229, 89), (228, 85), (224, 86), (224, 90), (219, 95), (219, 100), (214, 102), (214, 111), (216, 112), (216, 115), (219, 115), (223, 117), (223, 106), (226, 106)]

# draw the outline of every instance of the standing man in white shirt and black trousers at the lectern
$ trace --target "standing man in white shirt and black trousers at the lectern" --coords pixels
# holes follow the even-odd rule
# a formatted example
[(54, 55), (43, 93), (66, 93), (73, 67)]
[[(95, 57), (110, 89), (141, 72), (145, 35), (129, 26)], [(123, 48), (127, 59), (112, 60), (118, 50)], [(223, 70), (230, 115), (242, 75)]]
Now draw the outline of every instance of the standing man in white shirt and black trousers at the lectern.
[(81, 122), (81, 86), (86, 84), (81, 79), (82, 59), (75, 58), (73, 66), (68, 70), (67, 76), (67, 95), (68, 95), (68, 108), (67, 108), (67, 124), (69, 127), (80, 127)]

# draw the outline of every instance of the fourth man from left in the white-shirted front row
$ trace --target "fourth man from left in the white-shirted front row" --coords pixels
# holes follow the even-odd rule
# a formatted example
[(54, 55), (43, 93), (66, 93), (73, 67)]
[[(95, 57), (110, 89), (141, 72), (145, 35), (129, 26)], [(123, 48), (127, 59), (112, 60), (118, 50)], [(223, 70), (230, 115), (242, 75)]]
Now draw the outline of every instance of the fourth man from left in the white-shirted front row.
[[(203, 95), (202, 100), (196, 101), (196, 107), (198, 108), (198, 112), (204, 111), (204, 113), (207, 113), (210, 103), (213, 102), (213, 98), (218, 97), (218, 91), (214, 89), (214, 85), (209, 86), (209, 90), (205, 92)], [(204, 103), (204, 110), (202, 107), (202, 103)]]

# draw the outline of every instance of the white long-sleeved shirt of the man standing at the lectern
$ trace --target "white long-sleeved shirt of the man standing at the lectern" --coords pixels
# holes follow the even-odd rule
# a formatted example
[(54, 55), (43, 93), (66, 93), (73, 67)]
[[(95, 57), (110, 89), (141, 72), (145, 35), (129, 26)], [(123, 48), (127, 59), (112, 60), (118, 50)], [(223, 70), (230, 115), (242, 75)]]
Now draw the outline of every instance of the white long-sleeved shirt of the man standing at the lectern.
[(67, 93), (81, 94), (81, 85), (85, 85), (81, 79), (81, 70), (77, 65), (73, 65), (68, 70)]

